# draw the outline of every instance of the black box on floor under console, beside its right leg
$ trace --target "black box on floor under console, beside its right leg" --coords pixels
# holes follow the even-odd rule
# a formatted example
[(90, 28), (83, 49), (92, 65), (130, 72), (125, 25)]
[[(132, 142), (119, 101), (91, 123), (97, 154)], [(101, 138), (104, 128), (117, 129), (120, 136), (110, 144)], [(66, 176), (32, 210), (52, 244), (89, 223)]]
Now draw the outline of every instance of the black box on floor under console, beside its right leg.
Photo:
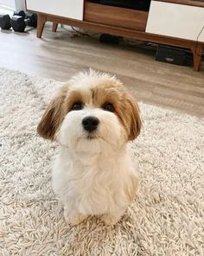
[(193, 66), (193, 55), (187, 49), (158, 45), (156, 49), (156, 61), (181, 66)]

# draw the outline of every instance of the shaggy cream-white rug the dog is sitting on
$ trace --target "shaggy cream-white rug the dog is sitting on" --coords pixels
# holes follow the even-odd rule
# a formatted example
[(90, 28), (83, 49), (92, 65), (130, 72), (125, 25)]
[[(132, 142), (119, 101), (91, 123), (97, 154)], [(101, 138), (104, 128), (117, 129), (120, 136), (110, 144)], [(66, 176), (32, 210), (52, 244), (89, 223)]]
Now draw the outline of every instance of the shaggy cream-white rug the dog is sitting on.
[(141, 103), (137, 200), (116, 227), (71, 227), (51, 188), (56, 150), (35, 132), (61, 83), (0, 70), (0, 255), (203, 255), (204, 119)]

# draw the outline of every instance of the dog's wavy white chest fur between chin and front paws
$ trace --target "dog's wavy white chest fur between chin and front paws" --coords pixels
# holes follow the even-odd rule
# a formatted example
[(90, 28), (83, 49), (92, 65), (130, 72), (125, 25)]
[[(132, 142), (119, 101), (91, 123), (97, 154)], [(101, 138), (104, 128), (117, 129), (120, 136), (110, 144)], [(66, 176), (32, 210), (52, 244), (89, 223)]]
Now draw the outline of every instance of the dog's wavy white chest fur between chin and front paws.
[(130, 173), (125, 149), (111, 155), (73, 154), (63, 149), (54, 163), (54, 190), (69, 211), (102, 214), (114, 211), (120, 202), (124, 205)]

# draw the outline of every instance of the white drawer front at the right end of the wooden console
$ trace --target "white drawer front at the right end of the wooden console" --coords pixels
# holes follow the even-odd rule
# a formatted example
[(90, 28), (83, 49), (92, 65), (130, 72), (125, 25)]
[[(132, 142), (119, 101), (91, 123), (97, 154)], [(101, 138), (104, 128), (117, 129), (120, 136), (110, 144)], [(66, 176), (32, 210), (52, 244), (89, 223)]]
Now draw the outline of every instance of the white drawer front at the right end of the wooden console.
[(204, 26), (204, 8), (151, 1), (146, 32), (197, 40)]

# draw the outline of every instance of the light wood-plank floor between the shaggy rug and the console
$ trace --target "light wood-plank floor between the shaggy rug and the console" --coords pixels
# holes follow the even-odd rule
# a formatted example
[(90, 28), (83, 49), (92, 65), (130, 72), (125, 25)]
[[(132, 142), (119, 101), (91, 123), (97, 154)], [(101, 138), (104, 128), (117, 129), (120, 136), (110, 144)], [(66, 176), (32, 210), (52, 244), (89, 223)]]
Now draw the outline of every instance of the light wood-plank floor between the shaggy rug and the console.
[(26, 74), (68, 80), (92, 67), (116, 74), (138, 100), (204, 116), (204, 65), (201, 72), (155, 61), (155, 51), (100, 43), (96, 38), (74, 37), (59, 29), (17, 34), (0, 31), (0, 67)]

